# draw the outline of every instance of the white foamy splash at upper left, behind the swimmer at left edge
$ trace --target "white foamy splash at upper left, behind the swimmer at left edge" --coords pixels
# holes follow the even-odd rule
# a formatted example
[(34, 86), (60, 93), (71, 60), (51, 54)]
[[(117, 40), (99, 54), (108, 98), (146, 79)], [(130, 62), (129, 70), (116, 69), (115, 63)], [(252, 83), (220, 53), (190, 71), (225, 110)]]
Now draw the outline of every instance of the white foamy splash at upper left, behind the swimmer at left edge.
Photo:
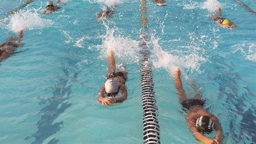
[(36, 12), (31, 12), (30, 10), (27, 10), (13, 14), (7, 27), (14, 32), (18, 32), (22, 29), (41, 29), (45, 27), (50, 27), (52, 25), (52, 20), (42, 19)]

